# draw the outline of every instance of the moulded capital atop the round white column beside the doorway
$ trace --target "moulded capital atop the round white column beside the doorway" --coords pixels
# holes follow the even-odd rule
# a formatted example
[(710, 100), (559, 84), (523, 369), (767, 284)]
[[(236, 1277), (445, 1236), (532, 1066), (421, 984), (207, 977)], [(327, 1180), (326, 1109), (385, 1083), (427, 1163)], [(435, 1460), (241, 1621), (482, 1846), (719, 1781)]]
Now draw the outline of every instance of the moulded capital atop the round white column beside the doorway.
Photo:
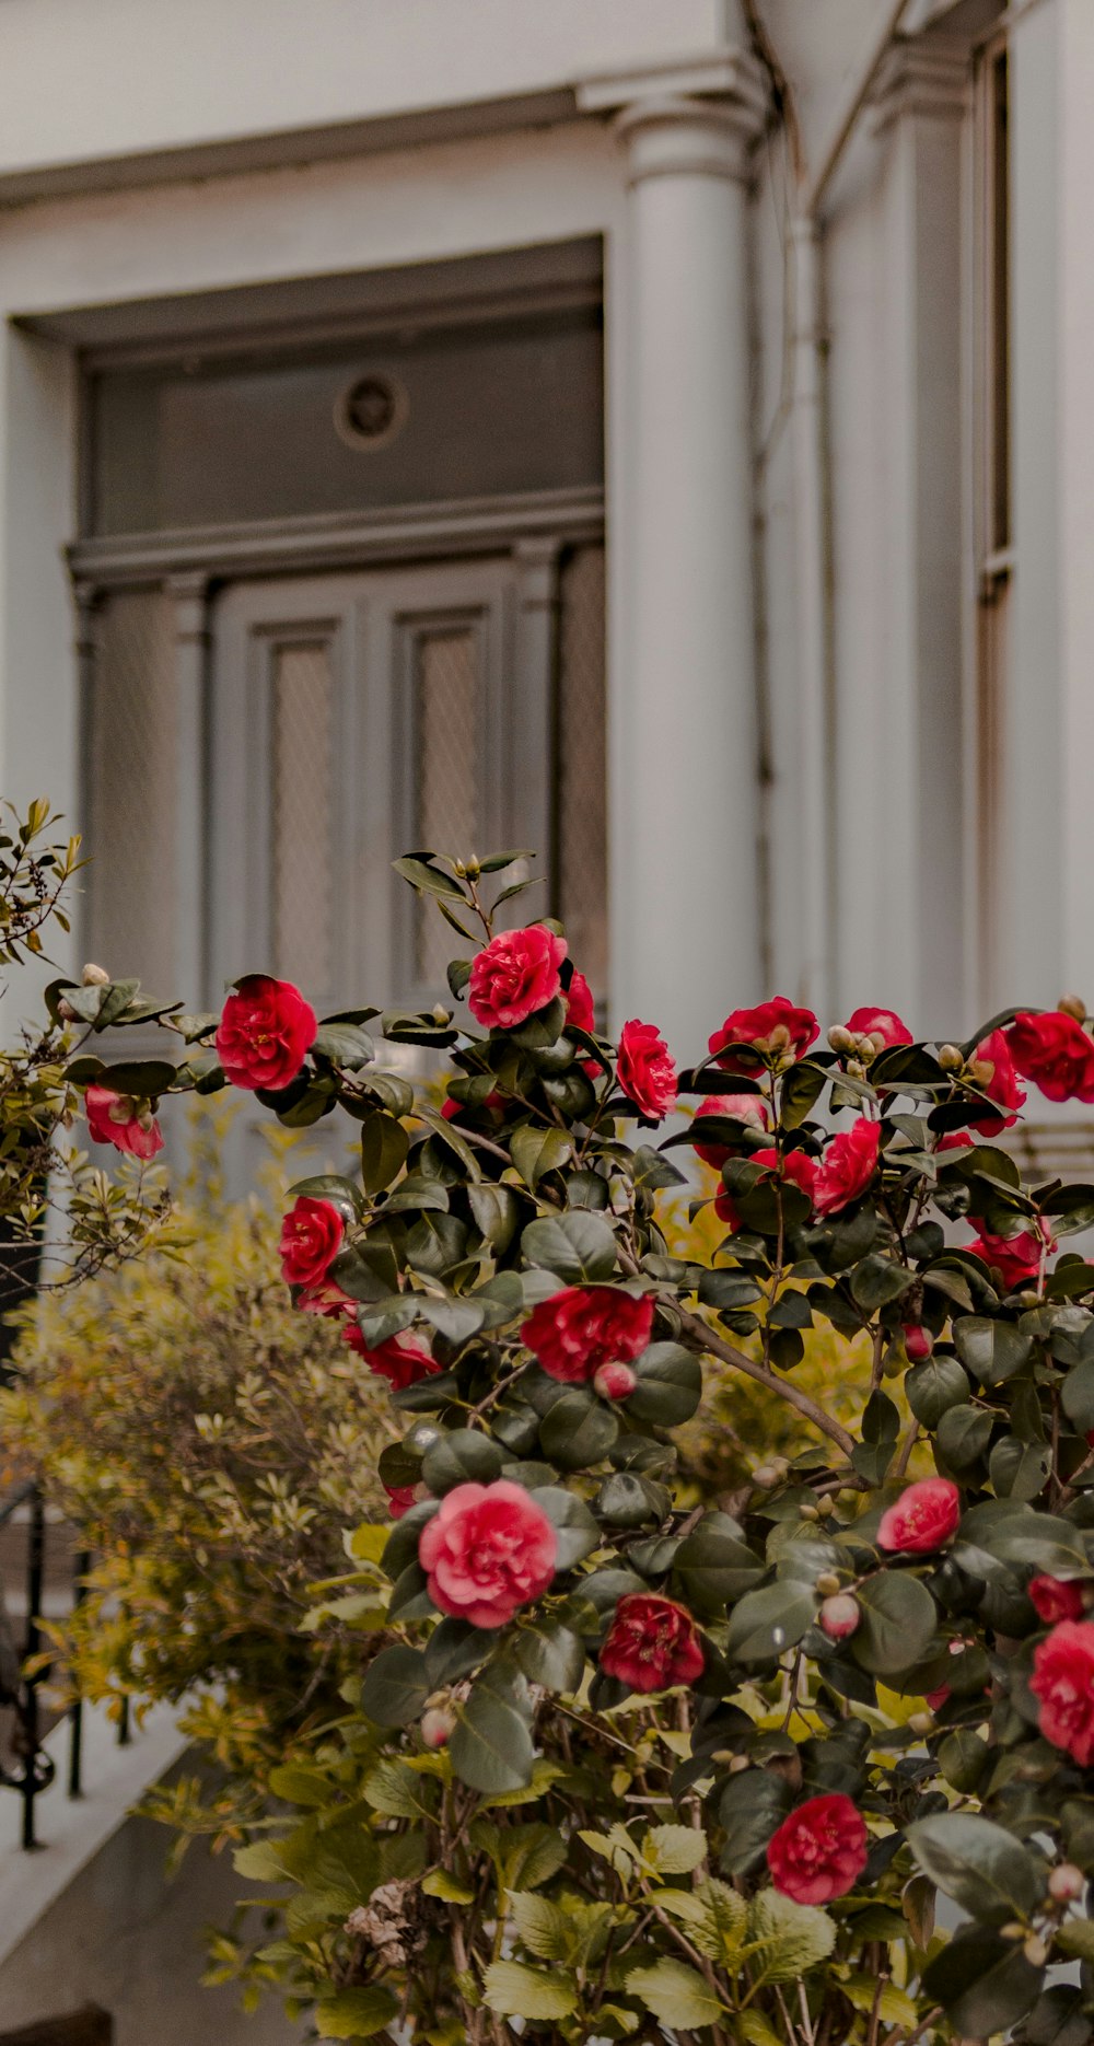
[(744, 49), (587, 78), (583, 113), (616, 117), (628, 147), (630, 184), (677, 172), (746, 178), (767, 119), (767, 90)]

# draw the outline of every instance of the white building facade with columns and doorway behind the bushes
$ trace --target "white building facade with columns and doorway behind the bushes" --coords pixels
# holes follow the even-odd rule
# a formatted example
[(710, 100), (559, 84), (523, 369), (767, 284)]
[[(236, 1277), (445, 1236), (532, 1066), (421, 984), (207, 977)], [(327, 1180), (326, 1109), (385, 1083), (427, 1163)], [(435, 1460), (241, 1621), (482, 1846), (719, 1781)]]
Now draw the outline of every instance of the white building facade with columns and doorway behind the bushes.
[(389, 859), (515, 837), (681, 1056), (1082, 990), (1092, 86), (1088, 0), (4, 0), (0, 761), (84, 951), (419, 996)]

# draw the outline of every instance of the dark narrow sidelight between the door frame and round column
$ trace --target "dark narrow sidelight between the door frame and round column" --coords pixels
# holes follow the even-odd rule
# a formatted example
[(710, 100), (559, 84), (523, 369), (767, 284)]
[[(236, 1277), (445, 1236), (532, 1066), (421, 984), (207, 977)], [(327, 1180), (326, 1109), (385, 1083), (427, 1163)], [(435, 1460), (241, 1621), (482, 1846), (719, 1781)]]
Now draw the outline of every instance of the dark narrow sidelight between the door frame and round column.
[(558, 904), (575, 966), (607, 990), (607, 692), (603, 546), (562, 567), (558, 649)]

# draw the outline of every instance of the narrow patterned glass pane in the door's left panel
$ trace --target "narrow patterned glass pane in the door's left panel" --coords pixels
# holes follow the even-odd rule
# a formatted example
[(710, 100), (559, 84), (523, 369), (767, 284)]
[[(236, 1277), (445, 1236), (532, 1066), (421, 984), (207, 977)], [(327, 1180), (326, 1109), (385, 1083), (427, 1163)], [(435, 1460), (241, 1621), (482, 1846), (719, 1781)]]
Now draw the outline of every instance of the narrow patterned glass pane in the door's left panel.
[(284, 980), (331, 986), (331, 649), (278, 647), (272, 665), (272, 921)]

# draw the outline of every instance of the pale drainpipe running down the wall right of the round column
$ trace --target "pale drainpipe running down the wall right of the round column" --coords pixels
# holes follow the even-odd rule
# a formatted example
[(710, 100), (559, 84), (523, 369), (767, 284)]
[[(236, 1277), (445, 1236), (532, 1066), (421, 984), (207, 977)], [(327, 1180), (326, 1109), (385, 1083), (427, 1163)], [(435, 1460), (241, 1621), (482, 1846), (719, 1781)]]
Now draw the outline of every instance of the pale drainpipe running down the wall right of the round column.
[(834, 616), (830, 577), (830, 479), (824, 432), (824, 313), (820, 284), (820, 209), (855, 133), (881, 59), (910, 0), (894, 0), (867, 59), (851, 82), (820, 170), (797, 192), (791, 225), (793, 397), (793, 557), (797, 587), (797, 685), (802, 747), (802, 913), (800, 998), (828, 1015), (832, 982), (832, 712)]

